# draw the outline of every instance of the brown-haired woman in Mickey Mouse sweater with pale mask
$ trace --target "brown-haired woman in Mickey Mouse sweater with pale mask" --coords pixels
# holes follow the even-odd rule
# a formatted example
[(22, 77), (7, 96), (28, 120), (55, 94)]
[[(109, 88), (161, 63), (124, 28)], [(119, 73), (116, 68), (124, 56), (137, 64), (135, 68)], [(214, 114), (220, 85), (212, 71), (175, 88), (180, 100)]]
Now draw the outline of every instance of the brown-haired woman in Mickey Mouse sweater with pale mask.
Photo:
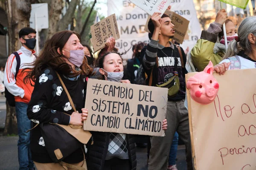
[[(24, 79), (35, 82), (35, 88), (27, 109), (29, 119), (36, 124), (58, 123), (60, 125), (83, 125), (87, 109), (84, 108), (86, 81), (84, 76), (92, 73), (84, 57), (79, 34), (74, 31), (60, 31), (52, 36), (33, 63), (33, 69)], [(57, 73), (69, 92), (75, 105), (68, 99)], [(32, 81), (32, 82), (31, 82)], [(49, 132), (51, 133), (51, 132)], [(54, 139), (52, 139), (54, 140)], [(38, 170), (64, 170), (59, 163), (53, 163), (41, 134), (41, 127), (32, 129), (32, 160)], [(67, 164), (84, 167), (84, 148), (75, 150), (62, 160)], [(65, 167), (67, 170), (70, 168)], [(72, 169), (73, 170), (73, 169)]]

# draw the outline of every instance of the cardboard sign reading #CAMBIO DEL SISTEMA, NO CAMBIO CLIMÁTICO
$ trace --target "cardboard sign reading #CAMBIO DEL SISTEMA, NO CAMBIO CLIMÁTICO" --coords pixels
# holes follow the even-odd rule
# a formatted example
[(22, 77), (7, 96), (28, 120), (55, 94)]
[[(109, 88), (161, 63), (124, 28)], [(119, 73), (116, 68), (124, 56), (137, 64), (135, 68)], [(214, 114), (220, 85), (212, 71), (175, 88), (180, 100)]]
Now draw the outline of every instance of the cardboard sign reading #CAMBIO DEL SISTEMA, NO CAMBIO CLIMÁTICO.
[(164, 136), (167, 88), (88, 79), (84, 130)]

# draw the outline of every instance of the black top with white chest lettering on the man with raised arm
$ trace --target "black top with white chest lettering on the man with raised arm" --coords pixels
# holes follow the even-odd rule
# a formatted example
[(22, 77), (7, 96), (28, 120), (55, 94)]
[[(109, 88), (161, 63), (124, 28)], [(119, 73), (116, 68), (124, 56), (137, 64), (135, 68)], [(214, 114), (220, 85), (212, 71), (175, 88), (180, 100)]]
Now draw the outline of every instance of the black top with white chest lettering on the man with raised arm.
[[(183, 62), (186, 63), (186, 54), (180, 47)], [(167, 82), (171, 77), (174, 76), (174, 71), (178, 72), (178, 77), (180, 80), (180, 90), (173, 96), (169, 97), (171, 101), (179, 101), (185, 99), (186, 94), (186, 83), (185, 74), (187, 74), (186, 68), (181, 67), (180, 54), (178, 48), (170, 42), (170, 47), (164, 47), (158, 44), (157, 41), (151, 40), (147, 46), (145, 46), (141, 51), (142, 65), (145, 68), (145, 72), (148, 76), (147, 84), (151, 71), (152, 74), (152, 86), (161, 85)], [(156, 59), (158, 57), (158, 67), (156, 65)], [(175, 58), (178, 59), (177, 70), (175, 70)]]

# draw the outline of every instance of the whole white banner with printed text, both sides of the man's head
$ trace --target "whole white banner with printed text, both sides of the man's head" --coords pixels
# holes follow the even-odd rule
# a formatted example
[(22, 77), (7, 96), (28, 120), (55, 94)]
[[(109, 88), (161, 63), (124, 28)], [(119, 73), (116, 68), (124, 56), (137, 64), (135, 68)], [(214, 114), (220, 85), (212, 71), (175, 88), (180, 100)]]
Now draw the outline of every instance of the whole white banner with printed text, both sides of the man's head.
[[(189, 51), (194, 47), (196, 41), (201, 37), (201, 27), (196, 15), (193, 0), (172, 0), (171, 10), (189, 20), (188, 36), (181, 47)], [(148, 14), (135, 6), (129, 0), (108, 0), (108, 15), (116, 14), (119, 27), (120, 39), (116, 41), (116, 48), (120, 52), (127, 51), (131, 45), (138, 42), (149, 42), (148, 33), (144, 31)], [(132, 49), (125, 55), (124, 59), (132, 57)]]

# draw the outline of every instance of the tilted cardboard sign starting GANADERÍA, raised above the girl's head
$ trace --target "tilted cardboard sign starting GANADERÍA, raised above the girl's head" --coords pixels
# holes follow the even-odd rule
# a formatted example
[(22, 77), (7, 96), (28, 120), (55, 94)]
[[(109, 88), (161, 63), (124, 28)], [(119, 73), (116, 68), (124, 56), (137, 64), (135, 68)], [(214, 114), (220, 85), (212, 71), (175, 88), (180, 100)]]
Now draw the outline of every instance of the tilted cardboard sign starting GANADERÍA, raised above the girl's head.
[(94, 52), (105, 47), (105, 42), (109, 37), (114, 37), (116, 40), (120, 38), (118, 26), (116, 23), (116, 15), (112, 14), (90, 26)]

